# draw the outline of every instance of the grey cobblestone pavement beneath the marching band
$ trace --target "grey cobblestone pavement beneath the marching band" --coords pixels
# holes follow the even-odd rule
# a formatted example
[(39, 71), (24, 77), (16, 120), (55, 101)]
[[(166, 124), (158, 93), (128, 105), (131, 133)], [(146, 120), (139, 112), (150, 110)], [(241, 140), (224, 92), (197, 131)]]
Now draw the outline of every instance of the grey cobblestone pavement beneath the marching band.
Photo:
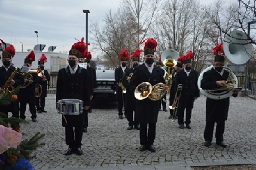
[(88, 132), (83, 133), (82, 156), (63, 155), (67, 145), (64, 128), (61, 126), (61, 115), (55, 109), (55, 100), (55, 94), (47, 95), (47, 113), (37, 113), (37, 122), (31, 121), (28, 106), (26, 109), (26, 120), (30, 123), (21, 127), (23, 139), (38, 131), (45, 133), (42, 140), (45, 145), (33, 152), (35, 157), (31, 163), (35, 169), (137, 169), (138, 165), (147, 167), (256, 163), (256, 102), (248, 97), (230, 97), (224, 132), (227, 148), (216, 145), (215, 139), (209, 148), (203, 146), (206, 97), (201, 96), (194, 103), (191, 130), (179, 129), (177, 121), (168, 119), (169, 112), (160, 111), (154, 142), (155, 153), (138, 151), (139, 130), (127, 130), (127, 119), (118, 119), (117, 106), (99, 103), (88, 116), (89, 126)]

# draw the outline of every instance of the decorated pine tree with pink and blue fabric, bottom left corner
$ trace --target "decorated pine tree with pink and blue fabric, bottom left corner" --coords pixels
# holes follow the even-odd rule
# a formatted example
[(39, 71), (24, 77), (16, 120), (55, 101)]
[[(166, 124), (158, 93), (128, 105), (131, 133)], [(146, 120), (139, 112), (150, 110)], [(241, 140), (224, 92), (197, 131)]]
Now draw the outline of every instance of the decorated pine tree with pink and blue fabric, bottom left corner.
[[(11, 93), (3, 94), (0, 92), (0, 107), (17, 100), (15, 93), (19, 91), (19, 88), (14, 88)], [(28, 161), (31, 159), (30, 154), (38, 146), (44, 145), (44, 143), (39, 143), (39, 140), (44, 136), (39, 132), (31, 139), (22, 140), (22, 135), (19, 133), (20, 123), (29, 122), (15, 117), (8, 118), (5, 113), (0, 112), (0, 169), (32, 170), (33, 167)]]

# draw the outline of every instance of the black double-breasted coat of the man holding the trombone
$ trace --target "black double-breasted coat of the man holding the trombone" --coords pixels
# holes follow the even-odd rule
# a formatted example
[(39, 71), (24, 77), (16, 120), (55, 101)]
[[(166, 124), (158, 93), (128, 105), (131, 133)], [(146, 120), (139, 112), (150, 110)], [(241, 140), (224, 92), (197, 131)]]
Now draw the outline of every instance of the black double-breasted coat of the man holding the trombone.
[(179, 107), (193, 108), (194, 98), (200, 96), (197, 79), (198, 73), (195, 70), (191, 69), (188, 76), (184, 69), (177, 72), (174, 91), (176, 92), (178, 85), (182, 84)]

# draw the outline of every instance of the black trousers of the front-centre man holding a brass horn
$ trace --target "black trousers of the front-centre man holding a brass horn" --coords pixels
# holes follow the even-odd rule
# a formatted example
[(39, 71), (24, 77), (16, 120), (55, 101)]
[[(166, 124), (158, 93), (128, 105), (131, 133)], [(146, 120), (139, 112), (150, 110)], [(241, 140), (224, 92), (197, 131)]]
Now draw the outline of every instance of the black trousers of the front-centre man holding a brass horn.
[[(147, 127), (148, 127), (148, 133), (147, 133)], [(141, 145), (152, 145), (156, 138), (156, 123), (153, 123), (153, 124), (140, 123), (139, 136), (140, 136)]]

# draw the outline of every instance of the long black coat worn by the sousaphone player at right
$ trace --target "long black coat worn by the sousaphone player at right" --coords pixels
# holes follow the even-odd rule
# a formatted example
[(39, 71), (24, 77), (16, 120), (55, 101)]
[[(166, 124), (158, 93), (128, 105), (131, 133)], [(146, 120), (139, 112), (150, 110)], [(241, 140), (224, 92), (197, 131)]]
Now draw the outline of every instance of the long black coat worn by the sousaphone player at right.
[[(229, 72), (224, 70), (223, 75), (221, 76), (213, 68), (209, 71), (206, 71), (203, 74), (203, 79), (201, 80), (201, 88), (206, 89), (213, 89), (217, 88), (216, 81), (218, 80), (227, 80)], [(237, 94), (232, 94), (234, 97)], [(214, 122), (224, 122), (227, 120), (229, 108), (229, 97), (221, 100), (213, 100), (210, 98), (206, 98), (206, 121), (214, 121)]]

